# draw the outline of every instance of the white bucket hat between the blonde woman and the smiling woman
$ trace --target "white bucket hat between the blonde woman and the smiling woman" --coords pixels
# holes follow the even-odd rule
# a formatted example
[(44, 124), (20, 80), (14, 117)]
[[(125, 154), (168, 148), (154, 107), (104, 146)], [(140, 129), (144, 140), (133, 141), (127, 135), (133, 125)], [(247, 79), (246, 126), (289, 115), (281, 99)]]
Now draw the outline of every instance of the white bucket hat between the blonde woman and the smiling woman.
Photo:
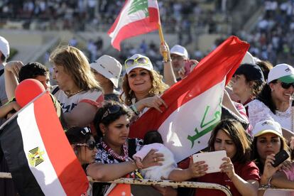
[(90, 64), (94, 70), (109, 79), (114, 87), (119, 87), (119, 76), (121, 75), (121, 63), (109, 55), (102, 55)]

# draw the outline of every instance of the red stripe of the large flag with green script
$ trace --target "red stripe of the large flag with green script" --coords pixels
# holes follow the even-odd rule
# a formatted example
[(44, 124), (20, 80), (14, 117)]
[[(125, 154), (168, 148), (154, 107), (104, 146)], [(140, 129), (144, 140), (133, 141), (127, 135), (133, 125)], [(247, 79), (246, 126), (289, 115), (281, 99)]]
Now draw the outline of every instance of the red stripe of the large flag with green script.
[[(249, 43), (239, 40), (236, 36), (231, 36), (225, 40), (222, 45), (219, 45), (218, 48), (201, 60), (195, 70), (184, 80), (177, 82), (165, 91), (161, 98), (168, 104), (168, 109), (160, 107), (164, 111), (163, 114), (156, 109), (148, 109), (131, 125), (129, 137), (143, 138), (146, 131), (158, 130), (165, 119), (176, 109), (222, 82), (226, 75), (226, 83), (229, 82), (248, 48)], [(197, 109), (197, 106), (195, 106), (195, 109)]]

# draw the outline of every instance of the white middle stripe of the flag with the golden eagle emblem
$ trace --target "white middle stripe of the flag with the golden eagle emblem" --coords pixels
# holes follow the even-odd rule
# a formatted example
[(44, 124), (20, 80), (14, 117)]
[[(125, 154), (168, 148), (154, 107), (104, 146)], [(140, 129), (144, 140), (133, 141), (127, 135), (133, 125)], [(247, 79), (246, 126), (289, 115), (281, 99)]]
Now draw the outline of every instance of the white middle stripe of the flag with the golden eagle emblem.
[[(60, 181), (58, 180), (55, 169), (50, 162), (48, 153), (40, 136), (38, 125), (35, 119), (33, 104), (28, 105), (28, 107), (23, 109), (23, 112), (18, 114), (17, 122), (21, 129), (21, 136), (23, 138), (23, 151), (26, 154), (27, 158), (29, 151), (31, 151), (33, 148), (38, 147), (40, 149), (40, 152), (43, 152), (43, 163), (40, 163), (40, 165), (33, 167), (28, 161), (28, 166), (31, 169), (31, 172), (35, 176), (44, 194), (66, 195), (62, 185), (60, 184)], [(60, 149), (60, 151), (62, 151), (62, 149)]]

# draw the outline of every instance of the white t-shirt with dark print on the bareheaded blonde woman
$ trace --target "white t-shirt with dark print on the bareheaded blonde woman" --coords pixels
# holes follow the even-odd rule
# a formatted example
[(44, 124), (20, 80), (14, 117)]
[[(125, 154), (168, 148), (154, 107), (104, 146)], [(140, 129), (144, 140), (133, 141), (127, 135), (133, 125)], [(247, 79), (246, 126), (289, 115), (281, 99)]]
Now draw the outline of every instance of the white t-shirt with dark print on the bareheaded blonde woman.
[[(53, 88), (53, 91), (54, 89), (55, 88)], [(95, 89), (94, 91), (83, 91), (72, 95), (71, 97), (67, 97), (65, 92), (59, 89), (58, 92), (55, 92), (54, 96), (56, 97), (56, 99), (58, 99), (63, 113), (72, 111), (72, 109), (74, 109), (75, 106), (77, 106), (77, 104), (79, 104), (80, 102), (85, 102), (96, 107), (101, 107), (101, 104), (104, 101), (103, 94), (98, 89)]]

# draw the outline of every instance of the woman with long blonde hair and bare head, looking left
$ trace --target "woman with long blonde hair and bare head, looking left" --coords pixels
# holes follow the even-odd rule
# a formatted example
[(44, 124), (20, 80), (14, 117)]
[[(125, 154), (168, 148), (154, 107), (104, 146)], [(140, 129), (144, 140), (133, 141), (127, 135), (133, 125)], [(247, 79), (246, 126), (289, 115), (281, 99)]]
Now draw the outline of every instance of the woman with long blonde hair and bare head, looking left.
[(75, 47), (64, 46), (53, 51), (50, 62), (58, 84), (52, 93), (61, 104), (67, 125), (89, 125), (104, 98), (86, 56)]

